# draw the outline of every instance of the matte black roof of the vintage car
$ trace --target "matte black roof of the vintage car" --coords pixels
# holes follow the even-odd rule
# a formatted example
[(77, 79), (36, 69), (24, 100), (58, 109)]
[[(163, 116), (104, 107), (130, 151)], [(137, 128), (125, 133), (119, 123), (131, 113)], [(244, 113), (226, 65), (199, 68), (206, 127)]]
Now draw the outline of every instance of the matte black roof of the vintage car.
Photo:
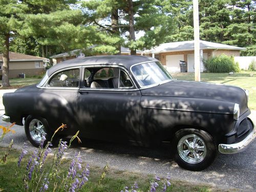
[(91, 56), (91, 57), (80, 57), (76, 59), (70, 59), (57, 63), (51, 67), (47, 73), (48, 76), (52, 75), (55, 71), (60, 69), (65, 69), (69, 67), (76, 66), (86, 66), (86, 65), (100, 65), (100, 64), (110, 64), (110, 65), (121, 65), (126, 69), (134, 64), (146, 61), (158, 61), (153, 57), (147, 56), (137, 56), (137, 55), (104, 55), (104, 56)]

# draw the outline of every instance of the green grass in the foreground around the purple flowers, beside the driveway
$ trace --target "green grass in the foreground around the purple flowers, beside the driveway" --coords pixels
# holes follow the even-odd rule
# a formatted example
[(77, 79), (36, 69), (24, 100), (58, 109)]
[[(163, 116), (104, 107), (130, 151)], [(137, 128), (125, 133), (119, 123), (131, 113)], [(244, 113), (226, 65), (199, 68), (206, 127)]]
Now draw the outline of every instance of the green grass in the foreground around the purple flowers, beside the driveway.
[[(15, 142), (15, 141), (14, 141)], [(6, 148), (0, 147), (0, 159), (2, 158)], [(29, 155), (26, 155), (22, 160), (21, 166), (17, 167), (17, 159), (19, 157), (19, 151), (11, 150), (9, 156), (7, 157), (6, 163), (0, 163), (0, 191), (24, 191), (23, 178), (26, 170), (26, 165), (29, 159)], [(30, 154), (31, 155), (31, 154)], [(47, 158), (45, 163), (45, 170), (48, 170), (51, 166), (52, 157)], [(66, 177), (69, 170), (71, 160), (63, 159), (59, 176)], [(85, 164), (85, 162), (84, 162)], [(113, 168), (115, 165), (109, 165), (110, 169), (106, 173), (105, 178), (98, 183), (99, 178), (102, 173), (102, 168), (96, 167), (90, 164), (90, 176), (89, 182), (87, 182), (84, 187), (79, 191), (120, 191), (124, 186), (132, 186), (136, 181), (138, 183), (138, 192), (148, 191), (150, 188), (150, 181), (154, 179), (154, 175), (146, 175), (142, 173), (133, 173), (122, 170), (116, 170)], [(233, 189), (221, 190), (217, 187), (212, 187), (209, 185), (201, 184), (191, 184), (184, 181), (177, 181), (171, 179), (171, 186), (167, 188), (166, 191), (233, 191)], [(162, 184), (159, 182), (159, 189), (157, 191), (162, 191)], [(47, 191), (53, 191), (53, 183), (50, 182), (49, 189)]]

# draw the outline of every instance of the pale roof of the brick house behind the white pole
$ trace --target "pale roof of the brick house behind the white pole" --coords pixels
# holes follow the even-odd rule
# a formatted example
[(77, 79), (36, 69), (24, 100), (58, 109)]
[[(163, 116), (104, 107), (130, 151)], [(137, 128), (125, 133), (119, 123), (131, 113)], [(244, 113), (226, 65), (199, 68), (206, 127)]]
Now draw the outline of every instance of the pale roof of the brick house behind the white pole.
[[(229, 46), (224, 44), (218, 44), (216, 42), (209, 42), (200, 40), (200, 49), (225, 49), (225, 50), (246, 50), (245, 48)], [(179, 42), (166, 42), (159, 46), (146, 50), (144, 53), (164, 53), (164, 52), (175, 52), (175, 51), (191, 51), (194, 50), (194, 40), (179, 41)]]

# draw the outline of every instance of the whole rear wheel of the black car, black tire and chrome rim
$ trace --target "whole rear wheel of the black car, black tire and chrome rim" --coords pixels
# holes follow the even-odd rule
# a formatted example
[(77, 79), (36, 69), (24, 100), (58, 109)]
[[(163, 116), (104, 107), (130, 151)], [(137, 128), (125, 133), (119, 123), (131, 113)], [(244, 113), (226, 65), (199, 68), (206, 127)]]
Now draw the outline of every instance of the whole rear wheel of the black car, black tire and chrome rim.
[(44, 145), (51, 139), (52, 135), (45, 118), (29, 115), (25, 120), (24, 127), (28, 140), (36, 147), (40, 145), (42, 134), (46, 134)]

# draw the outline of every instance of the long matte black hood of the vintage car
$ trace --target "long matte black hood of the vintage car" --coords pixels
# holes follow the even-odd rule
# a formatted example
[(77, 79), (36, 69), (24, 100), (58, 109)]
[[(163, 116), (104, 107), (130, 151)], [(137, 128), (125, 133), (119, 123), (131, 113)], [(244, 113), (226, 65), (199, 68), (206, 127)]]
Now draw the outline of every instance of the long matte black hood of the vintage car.
[(142, 89), (141, 94), (143, 96), (188, 97), (228, 101), (238, 103), (242, 113), (248, 110), (245, 91), (224, 84), (173, 80), (159, 86)]

